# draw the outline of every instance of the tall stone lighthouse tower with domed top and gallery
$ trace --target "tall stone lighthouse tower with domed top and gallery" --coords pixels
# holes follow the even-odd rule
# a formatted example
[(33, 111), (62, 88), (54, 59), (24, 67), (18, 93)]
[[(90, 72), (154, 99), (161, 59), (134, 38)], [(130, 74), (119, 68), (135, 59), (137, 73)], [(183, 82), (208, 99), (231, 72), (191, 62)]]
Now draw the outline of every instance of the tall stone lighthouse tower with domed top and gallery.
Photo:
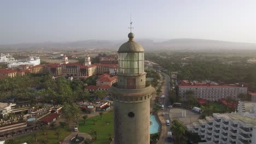
[(146, 84), (144, 49), (129, 41), (118, 50), (118, 82), (110, 88), (114, 99), (114, 143), (149, 144), (150, 98), (155, 89)]

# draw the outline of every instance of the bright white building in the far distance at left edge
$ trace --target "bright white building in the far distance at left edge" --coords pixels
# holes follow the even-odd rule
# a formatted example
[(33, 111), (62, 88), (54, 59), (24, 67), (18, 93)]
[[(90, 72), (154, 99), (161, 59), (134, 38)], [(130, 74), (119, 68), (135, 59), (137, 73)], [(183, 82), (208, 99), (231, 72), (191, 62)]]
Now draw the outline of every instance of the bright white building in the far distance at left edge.
[(40, 64), (40, 58), (39, 57), (30, 57), (29, 59), (20, 59), (15, 61), (9, 61), (9, 64), (7, 64), (7, 68), (17, 68), (21, 65), (30, 65), (35, 66)]

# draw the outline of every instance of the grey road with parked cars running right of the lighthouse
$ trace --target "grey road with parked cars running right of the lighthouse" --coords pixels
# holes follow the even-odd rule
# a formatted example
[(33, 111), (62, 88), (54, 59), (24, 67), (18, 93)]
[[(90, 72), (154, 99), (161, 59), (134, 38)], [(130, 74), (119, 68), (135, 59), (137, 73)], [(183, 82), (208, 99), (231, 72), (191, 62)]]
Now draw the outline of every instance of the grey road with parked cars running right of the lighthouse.
[[(162, 110), (163, 112), (165, 112), (165, 116), (164, 119), (165, 121), (168, 119), (170, 120), (169, 117), (169, 108), (167, 107), (168, 105), (171, 105), (171, 101), (170, 101), (170, 97), (169, 97), (169, 92), (170, 92), (170, 76), (167, 75), (166, 73), (161, 73), (162, 75), (164, 75), (165, 80), (164, 80), (164, 85), (162, 86), (162, 94), (166, 96), (165, 99), (161, 99), (162, 100), (162, 104), (164, 104), (164, 110)], [(170, 121), (171, 122), (171, 121)], [(166, 130), (169, 131), (170, 130), (170, 126), (166, 126)], [(172, 142), (167, 140), (167, 131), (162, 131), (162, 133), (164, 133), (164, 136), (162, 137), (162, 139), (160, 138), (159, 140), (159, 144), (160, 143), (166, 143), (166, 144), (170, 144)]]

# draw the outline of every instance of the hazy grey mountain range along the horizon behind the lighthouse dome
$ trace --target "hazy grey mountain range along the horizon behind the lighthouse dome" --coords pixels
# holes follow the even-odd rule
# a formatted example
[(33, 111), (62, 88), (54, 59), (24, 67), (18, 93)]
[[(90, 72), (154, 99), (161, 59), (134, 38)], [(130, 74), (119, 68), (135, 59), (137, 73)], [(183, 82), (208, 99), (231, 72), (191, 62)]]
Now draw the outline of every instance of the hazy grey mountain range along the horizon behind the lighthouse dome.
[[(151, 39), (135, 39), (145, 50), (178, 50), (178, 51), (220, 51), (220, 50), (256, 50), (254, 43), (236, 43), (230, 41), (206, 39), (171, 39), (154, 43)], [(24, 43), (0, 45), (0, 50), (31, 51), (37, 49), (112, 49), (118, 50), (119, 46), (127, 40), (81, 40), (69, 43)]]

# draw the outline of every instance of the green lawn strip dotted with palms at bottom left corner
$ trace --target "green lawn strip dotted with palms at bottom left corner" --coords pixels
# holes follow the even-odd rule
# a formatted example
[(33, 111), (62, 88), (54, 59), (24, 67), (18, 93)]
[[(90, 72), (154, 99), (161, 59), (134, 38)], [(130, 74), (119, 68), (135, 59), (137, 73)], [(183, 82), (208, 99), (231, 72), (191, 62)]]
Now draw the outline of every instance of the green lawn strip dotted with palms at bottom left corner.
[(43, 134), (43, 131), (38, 131), (38, 140), (37, 142), (35, 141), (34, 138), (34, 133), (30, 133), (28, 135), (20, 136), (14, 139), (14, 143), (22, 143), (22, 142), (27, 142), (27, 143), (33, 143), (33, 144), (39, 144), (43, 143), (44, 139), (47, 139), (49, 144), (56, 144), (58, 142), (57, 136), (55, 135), (56, 131), (61, 131), (61, 137), (60, 140), (65, 139), (66, 136), (70, 134), (69, 130), (63, 129), (63, 128), (55, 128), (55, 129), (49, 129), (46, 130), (47, 135)]

